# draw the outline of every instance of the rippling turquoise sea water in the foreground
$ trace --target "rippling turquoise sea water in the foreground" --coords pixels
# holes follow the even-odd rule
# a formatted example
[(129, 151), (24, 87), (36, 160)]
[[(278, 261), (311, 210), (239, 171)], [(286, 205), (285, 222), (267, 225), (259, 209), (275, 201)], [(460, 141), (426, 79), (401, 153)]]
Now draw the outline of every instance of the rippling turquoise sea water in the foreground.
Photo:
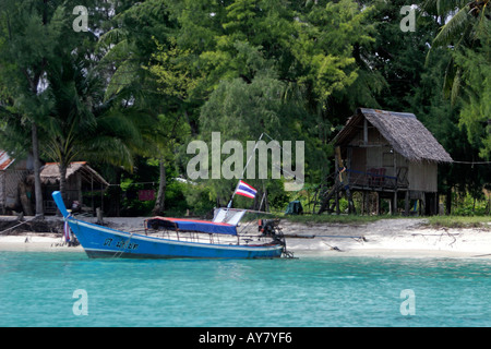
[(0, 326), (491, 326), (490, 293), (491, 261), (479, 258), (0, 252)]

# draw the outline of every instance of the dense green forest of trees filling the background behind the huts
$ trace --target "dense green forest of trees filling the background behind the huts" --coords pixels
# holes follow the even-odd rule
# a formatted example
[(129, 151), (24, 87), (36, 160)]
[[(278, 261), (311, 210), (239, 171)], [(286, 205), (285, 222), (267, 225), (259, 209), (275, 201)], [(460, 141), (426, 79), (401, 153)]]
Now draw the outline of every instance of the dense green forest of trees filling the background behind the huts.
[[(407, 5), (412, 10), (402, 13)], [(246, 144), (263, 132), (301, 140), (302, 191), (284, 191), (283, 180), (248, 180), (260, 191), (255, 202), (235, 202), (258, 208), (267, 192), (268, 208), (284, 210), (291, 200), (307, 206), (334, 171), (330, 141), (356, 108), (406, 111), (456, 160), (439, 169), (447, 213), (490, 214), (490, 7), (1, 1), (0, 148), (31, 155), (35, 179), (44, 161), (59, 163), (63, 173), (71, 161), (87, 160), (111, 183), (108, 216), (201, 215), (226, 205), (237, 180), (190, 183), (191, 141), (209, 142), (216, 131), (221, 142)], [(403, 31), (411, 13), (414, 31)], [(156, 198), (140, 202), (143, 189)]]

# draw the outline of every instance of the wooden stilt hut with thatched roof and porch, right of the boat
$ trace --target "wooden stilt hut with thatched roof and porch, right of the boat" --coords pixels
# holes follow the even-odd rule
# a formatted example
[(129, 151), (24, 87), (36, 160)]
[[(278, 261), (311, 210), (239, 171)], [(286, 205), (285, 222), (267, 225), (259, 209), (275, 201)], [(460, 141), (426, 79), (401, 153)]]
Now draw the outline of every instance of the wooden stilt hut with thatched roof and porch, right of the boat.
[(420, 214), (438, 214), (438, 164), (452, 163), (448, 153), (412, 113), (359, 108), (332, 141), (335, 146), (335, 184), (321, 196), (319, 213), (331, 206), (339, 212), (338, 196), (345, 191), (355, 210), (351, 195), (376, 193), (388, 198), (392, 213), (398, 200), (409, 214), (411, 200), (420, 201)]

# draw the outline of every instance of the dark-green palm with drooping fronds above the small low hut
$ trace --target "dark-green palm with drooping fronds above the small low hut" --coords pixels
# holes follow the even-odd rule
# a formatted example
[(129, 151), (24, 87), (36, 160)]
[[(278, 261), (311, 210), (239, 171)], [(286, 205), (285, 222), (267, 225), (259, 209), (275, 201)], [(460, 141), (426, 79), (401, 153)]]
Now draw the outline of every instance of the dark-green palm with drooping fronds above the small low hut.
[(73, 160), (131, 169), (132, 149), (142, 140), (135, 117), (121, 110), (115, 99), (104, 101), (103, 81), (86, 60), (71, 56), (57, 70), (49, 70), (48, 82), (52, 107), (40, 124), (41, 143), (46, 156), (59, 164), (62, 195)]

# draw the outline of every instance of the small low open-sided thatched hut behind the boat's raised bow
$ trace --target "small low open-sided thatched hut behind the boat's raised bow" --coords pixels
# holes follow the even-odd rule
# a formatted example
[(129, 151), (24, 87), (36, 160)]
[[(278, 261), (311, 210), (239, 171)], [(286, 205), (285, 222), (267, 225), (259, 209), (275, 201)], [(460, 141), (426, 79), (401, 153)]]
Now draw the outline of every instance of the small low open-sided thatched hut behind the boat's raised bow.
[[(58, 163), (47, 163), (40, 172), (43, 184), (43, 197), (45, 213), (55, 214), (57, 207), (51, 197), (51, 193), (60, 188), (60, 168)], [(67, 204), (72, 205), (77, 201), (81, 205), (83, 202), (83, 192), (100, 192), (104, 193), (109, 183), (87, 165), (86, 161), (71, 163), (67, 168)], [(93, 206), (93, 205), (92, 205)], [(92, 207), (94, 210), (94, 207)]]

